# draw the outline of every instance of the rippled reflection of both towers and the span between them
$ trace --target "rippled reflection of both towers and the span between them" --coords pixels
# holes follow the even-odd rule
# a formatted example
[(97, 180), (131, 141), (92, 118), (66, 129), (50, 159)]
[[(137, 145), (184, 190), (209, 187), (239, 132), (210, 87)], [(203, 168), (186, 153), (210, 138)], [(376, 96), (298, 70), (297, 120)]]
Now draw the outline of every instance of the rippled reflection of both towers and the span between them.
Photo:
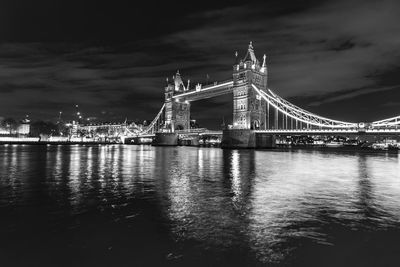
[(176, 238), (246, 246), (254, 151), (185, 148), (170, 154), (168, 181), (159, 193), (166, 194)]

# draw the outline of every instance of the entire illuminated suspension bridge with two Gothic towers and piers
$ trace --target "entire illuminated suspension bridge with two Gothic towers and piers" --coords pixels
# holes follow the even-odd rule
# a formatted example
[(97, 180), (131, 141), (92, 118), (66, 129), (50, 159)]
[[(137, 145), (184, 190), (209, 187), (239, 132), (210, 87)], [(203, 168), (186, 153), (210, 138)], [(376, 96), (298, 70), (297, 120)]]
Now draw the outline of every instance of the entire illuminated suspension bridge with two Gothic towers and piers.
[(167, 79), (165, 101), (150, 125), (137, 137), (155, 137), (159, 145), (174, 145), (182, 136), (207, 135), (206, 129), (190, 126), (191, 103), (197, 100), (233, 95), (233, 125), (222, 135), (225, 147), (271, 147), (275, 137), (288, 134), (400, 135), (400, 116), (373, 122), (347, 122), (326, 118), (304, 110), (268, 87), (266, 56), (259, 61), (250, 42), (246, 54), (235, 54), (233, 77), (212, 85), (190, 86), (179, 71), (172, 82)]

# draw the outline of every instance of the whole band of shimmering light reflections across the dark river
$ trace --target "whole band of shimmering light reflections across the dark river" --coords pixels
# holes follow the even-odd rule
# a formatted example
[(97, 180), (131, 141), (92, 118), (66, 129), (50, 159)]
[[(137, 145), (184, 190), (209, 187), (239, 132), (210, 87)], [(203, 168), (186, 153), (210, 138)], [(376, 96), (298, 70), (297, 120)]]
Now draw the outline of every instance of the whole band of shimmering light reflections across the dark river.
[(46, 195), (55, 212), (112, 206), (117, 221), (133, 212), (118, 207), (151, 200), (175, 242), (247, 249), (261, 262), (290, 257), (296, 240), (334, 246), (331, 225), (399, 228), (397, 154), (0, 146), (0, 164), (2, 208), (44, 205), (35, 201)]

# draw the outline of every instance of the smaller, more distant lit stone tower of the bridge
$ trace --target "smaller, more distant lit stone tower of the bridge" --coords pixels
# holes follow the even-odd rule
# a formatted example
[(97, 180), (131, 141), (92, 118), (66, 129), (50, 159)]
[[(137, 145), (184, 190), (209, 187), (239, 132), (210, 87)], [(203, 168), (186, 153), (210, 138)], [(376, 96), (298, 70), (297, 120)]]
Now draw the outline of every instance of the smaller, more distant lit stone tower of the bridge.
[(174, 99), (174, 94), (181, 94), (189, 90), (188, 85), (185, 87), (179, 70), (173, 76), (173, 83), (169, 83), (165, 87), (165, 128), (170, 132), (176, 130), (190, 129), (190, 103)]

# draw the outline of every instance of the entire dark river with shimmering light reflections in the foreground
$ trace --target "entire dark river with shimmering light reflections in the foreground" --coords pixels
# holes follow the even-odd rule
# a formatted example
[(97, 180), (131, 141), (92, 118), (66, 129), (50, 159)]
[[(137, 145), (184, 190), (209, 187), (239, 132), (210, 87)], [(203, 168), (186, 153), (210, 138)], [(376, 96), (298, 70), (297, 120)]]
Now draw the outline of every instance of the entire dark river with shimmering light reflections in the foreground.
[(400, 157), (0, 145), (0, 266), (398, 266)]

